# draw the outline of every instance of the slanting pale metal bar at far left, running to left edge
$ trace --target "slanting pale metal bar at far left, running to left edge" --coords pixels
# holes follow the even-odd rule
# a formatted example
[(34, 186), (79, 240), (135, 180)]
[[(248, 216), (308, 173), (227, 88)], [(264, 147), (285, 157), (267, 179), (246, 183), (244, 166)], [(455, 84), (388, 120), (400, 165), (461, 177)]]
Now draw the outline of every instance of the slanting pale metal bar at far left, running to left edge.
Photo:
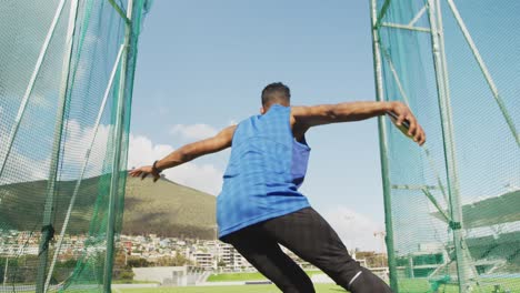
[(40, 72), (41, 64), (43, 63), (43, 59), (47, 55), (47, 50), (49, 49), (50, 40), (52, 39), (52, 36), (54, 36), (56, 26), (58, 24), (58, 20), (61, 17), (61, 11), (63, 11), (64, 2), (66, 2), (64, 0), (61, 0), (60, 3), (58, 4), (58, 8), (54, 13), (54, 18), (52, 19), (49, 31), (47, 32), (46, 40), (43, 41), (43, 46), (41, 47), (40, 54), (38, 55), (34, 70), (32, 71), (32, 75), (29, 79), (29, 84), (27, 85), (26, 93), (23, 94), (22, 101), (20, 103), (20, 108), (18, 109), (17, 118), (14, 119), (14, 123), (12, 125), (11, 132), (9, 133), (9, 139), (7, 140), (7, 145), (6, 145), (7, 151), (6, 151), (6, 154), (3, 155), (2, 163), (0, 165), (0, 179), (2, 178), (7, 160), (9, 158), (9, 154), (11, 153), (12, 144), (14, 142), (14, 138), (17, 137), (18, 129), (20, 128), (21, 120), (23, 118), (23, 114), (26, 113), (26, 108), (27, 108), (27, 103), (29, 102), (29, 97), (31, 95), (32, 90), (34, 89), (36, 79), (38, 77), (38, 73)]

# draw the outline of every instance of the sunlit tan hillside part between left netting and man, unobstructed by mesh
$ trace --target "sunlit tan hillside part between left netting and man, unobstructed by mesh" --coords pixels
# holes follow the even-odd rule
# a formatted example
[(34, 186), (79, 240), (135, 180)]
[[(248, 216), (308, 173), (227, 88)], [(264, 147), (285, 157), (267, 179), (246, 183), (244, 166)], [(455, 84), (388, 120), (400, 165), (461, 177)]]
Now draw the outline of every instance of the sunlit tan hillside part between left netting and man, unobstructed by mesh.
[(214, 238), (217, 198), (168, 180), (129, 178), (123, 234)]

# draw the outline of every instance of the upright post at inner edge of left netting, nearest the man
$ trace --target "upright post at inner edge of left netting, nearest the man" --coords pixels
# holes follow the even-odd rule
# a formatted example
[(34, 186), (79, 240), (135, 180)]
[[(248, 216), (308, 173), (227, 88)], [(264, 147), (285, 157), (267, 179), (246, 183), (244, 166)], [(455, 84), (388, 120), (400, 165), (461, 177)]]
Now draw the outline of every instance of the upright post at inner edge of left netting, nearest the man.
[(119, 91), (116, 110), (116, 125), (113, 132), (113, 144), (114, 152), (112, 156), (112, 178), (110, 181), (110, 194), (109, 194), (109, 211), (108, 211), (108, 224), (107, 224), (107, 255), (104, 257), (104, 274), (103, 274), (103, 292), (111, 292), (112, 283), (112, 271), (113, 271), (113, 251), (114, 251), (114, 235), (116, 235), (116, 201), (119, 194), (119, 181), (120, 181), (120, 168), (121, 168), (121, 138), (123, 131), (124, 121), (124, 99), (127, 88), (127, 64), (129, 58), (129, 46), (130, 38), (132, 37), (132, 10), (133, 0), (128, 0), (127, 4), (127, 19), (130, 22), (126, 22), (124, 33), (124, 51), (121, 60), (121, 68), (119, 72)]

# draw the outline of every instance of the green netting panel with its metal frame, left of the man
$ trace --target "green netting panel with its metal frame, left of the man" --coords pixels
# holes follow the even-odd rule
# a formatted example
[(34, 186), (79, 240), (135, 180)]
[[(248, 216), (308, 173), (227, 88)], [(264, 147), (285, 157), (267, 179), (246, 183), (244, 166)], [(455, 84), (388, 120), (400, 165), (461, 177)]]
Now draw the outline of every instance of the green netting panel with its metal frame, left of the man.
[(109, 292), (148, 6), (0, 4), (0, 292)]

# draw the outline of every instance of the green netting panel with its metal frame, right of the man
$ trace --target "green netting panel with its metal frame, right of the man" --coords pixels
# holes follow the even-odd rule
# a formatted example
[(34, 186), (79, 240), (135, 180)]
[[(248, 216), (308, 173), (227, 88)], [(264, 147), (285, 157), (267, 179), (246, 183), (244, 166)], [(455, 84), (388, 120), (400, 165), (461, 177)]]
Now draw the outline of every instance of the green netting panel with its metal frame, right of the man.
[(520, 292), (520, 2), (372, 9), (379, 99), (428, 135), (380, 124), (392, 287)]

